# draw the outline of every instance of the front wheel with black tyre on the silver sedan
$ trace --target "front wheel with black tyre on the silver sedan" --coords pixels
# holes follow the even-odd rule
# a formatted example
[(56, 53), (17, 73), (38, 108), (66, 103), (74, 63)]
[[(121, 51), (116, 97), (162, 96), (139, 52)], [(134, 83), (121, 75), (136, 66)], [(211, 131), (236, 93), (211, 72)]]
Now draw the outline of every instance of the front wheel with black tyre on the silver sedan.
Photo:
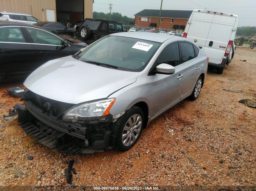
[(120, 117), (115, 146), (119, 151), (127, 151), (138, 141), (144, 126), (144, 114), (141, 108), (131, 107)]

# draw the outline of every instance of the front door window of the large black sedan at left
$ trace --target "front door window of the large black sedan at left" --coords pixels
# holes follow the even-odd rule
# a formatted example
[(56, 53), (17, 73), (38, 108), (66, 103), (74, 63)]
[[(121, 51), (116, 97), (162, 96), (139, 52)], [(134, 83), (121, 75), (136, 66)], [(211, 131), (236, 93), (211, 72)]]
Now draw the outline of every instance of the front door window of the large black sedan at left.
[(62, 46), (62, 40), (55, 35), (48, 33), (43, 30), (28, 28), (26, 27), (30, 37), (35, 44), (47, 44), (47, 45), (57, 45)]

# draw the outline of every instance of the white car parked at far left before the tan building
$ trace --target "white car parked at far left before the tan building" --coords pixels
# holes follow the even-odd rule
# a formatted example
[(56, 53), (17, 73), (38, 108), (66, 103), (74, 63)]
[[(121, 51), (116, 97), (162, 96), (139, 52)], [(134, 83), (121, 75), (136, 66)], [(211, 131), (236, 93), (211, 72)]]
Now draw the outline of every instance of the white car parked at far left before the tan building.
[(29, 14), (0, 12), (0, 17), (7, 17), (7, 21), (15, 21), (26, 24), (34, 24), (40, 22), (37, 18)]

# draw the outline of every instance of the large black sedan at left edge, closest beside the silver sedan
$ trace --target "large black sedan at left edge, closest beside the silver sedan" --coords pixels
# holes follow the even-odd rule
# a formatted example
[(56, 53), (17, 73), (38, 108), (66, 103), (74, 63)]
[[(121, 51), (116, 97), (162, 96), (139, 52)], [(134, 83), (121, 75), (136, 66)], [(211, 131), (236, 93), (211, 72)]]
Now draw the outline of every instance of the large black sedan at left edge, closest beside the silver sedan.
[(40, 27), (0, 21), (0, 79), (25, 78), (45, 62), (85, 47)]

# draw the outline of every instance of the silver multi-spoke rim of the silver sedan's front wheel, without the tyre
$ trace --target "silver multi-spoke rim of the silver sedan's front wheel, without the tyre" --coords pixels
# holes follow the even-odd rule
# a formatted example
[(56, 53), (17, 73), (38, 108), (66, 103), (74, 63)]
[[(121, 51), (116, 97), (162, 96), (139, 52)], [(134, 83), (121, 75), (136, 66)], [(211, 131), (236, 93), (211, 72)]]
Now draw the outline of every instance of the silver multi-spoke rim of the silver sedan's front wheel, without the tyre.
[(122, 132), (122, 143), (128, 147), (138, 138), (142, 125), (142, 118), (139, 114), (131, 116), (125, 124)]

